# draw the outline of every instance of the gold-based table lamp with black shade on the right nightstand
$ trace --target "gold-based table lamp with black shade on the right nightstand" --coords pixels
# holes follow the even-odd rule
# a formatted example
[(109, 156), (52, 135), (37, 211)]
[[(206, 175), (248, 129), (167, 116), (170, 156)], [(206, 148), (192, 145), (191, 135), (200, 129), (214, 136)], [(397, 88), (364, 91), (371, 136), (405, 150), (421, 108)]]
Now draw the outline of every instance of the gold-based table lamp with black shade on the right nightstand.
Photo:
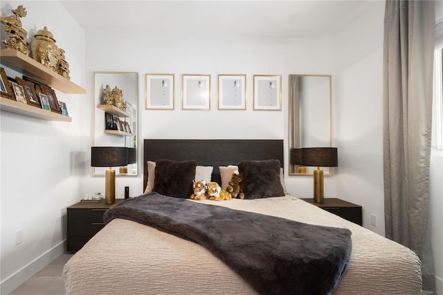
[(301, 149), (301, 165), (316, 166), (314, 170), (314, 202), (323, 203), (323, 170), (320, 167), (337, 167), (336, 147), (303, 147)]

